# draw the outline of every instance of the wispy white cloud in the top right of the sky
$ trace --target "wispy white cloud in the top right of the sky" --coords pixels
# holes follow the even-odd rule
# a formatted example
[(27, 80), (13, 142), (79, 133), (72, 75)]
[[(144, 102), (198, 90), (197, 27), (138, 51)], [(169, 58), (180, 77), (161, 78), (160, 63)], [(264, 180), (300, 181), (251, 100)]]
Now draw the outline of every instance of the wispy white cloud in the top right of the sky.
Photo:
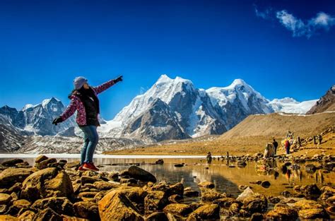
[[(272, 18), (272, 10), (272, 8), (266, 8), (265, 11), (259, 11), (257, 6), (254, 5), (256, 16), (266, 20)], [(324, 12), (317, 13), (314, 18), (310, 18), (309, 20), (296, 18), (286, 10), (276, 11), (275, 15), (279, 22), (292, 32), (293, 37), (305, 36), (310, 38), (312, 35), (316, 35), (318, 30), (323, 29), (328, 31), (335, 25), (335, 17)]]

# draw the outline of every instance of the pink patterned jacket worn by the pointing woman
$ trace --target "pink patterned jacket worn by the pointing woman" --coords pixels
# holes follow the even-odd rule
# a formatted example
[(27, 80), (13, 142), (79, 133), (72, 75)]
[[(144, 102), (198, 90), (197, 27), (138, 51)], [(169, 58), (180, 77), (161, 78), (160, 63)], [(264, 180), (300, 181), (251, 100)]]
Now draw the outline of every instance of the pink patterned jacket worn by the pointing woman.
[[(95, 95), (100, 94), (100, 92), (103, 92), (104, 90), (107, 90), (108, 88), (112, 87), (114, 85), (114, 80), (108, 80), (106, 83), (102, 83), (101, 85), (98, 85), (97, 87), (92, 87), (93, 91), (95, 92)], [(63, 114), (61, 114), (61, 119), (65, 121), (69, 117), (74, 114), (74, 112), (77, 111), (77, 117), (76, 121), (79, 126), (86, 125), (86, 111), (85, 107), (83, 105), (83, 102), (81, 102), (81, 99), (76, 96), (75, 94), (71, 95), (71, 102), (68, 107), (64, 110)]]

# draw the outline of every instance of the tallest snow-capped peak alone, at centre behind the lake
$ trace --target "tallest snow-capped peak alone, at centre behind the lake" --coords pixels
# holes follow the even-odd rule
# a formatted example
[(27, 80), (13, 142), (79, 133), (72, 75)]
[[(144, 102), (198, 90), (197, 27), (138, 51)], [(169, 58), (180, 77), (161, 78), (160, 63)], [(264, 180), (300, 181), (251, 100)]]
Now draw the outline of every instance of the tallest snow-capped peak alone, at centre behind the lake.
[[(170, 120), (167, 120), (168, 117)], [(110, 125), (112, 128), (108, 131)], [(177, 131), (172, 133), (172, 126)], [(221, 116), (204, 90), (194, 88), (190, 80), (180, 77), (171, 79), (166, 75), (160, 76), (143, 95), (136, 96), (102, 130), (107, 131), (105, 136), (136, 134), (138, 138), (148, 137), (155, 141), (226, 131)]]

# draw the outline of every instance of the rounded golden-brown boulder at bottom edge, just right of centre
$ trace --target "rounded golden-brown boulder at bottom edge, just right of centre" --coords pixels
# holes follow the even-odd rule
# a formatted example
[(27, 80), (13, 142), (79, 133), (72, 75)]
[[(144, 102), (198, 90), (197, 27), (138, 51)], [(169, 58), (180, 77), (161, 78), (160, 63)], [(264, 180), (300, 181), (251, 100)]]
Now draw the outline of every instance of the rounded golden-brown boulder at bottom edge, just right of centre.
[(187, 221), (218, 219), (220, 219), (220, 206), (216, 204), (203, 205), (187, 217)]

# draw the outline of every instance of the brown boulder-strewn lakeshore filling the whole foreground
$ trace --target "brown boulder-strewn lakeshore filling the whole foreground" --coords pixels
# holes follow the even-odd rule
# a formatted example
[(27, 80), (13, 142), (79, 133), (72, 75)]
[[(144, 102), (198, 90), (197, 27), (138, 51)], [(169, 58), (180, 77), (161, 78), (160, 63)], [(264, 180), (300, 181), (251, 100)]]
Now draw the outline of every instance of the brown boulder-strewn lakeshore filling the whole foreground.
[[(45, 155), (34, 158), (34, 162), (20, 158), (1, 159), (0, 220), (335, 218), (334, 156), (279, 156), (275, 160), (263, 159), (261, 154), (256, 154), (213, 157), (204, 161), (177, 162), (170, 166), (175, 174), (181, 171), (178, 169), (188, 167), (199, 167), (204, 174), (216, 168), (225, 172), (235, 169), (229, 174), (238, 177), (247, 165), (252, 165), (259, 180), (254, 179), (256, 177), (245, 180), (245, 183), (235, 185), (238, 193), (230, 193), (229, 189), (218, 188), (220, 184), (206, 176), (193, 176), (199, 179), (196, 186), (183, 179), (177, 182), (162, 180), (143, 167), (144, 162), (123, 165), (119, 171), (110, 169), (117, 166), (115, 164), (98, 165), (100, 172), (78, 172), (78, 161)], [(162, 167), (166, 163), (165, 159), (147, 162), (148, 168)], [(314, 177), (305, 179), (308, 183), (293, 185), (288, 182), (288, 185), (281, 185), (283, 187), (278, 192), (271, 190), (281, 176), (301, 179), (307, 177), (306, 174)], [(331, 177), (327, 178), (329, 174)], [(243, 180), (243, 175), (238, 179)]]

